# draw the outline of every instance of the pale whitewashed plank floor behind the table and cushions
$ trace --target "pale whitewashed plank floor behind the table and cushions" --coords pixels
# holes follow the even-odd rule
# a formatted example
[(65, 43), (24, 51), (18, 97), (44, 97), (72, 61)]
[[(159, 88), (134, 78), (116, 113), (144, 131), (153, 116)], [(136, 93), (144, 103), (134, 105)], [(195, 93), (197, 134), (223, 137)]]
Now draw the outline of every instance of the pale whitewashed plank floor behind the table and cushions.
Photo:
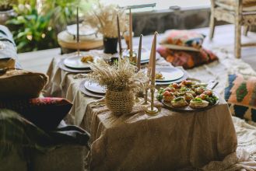
[[(209, 33), (209, 28), (195, 29), (198, 33), (204, 33), (206, 36)], [(151, 42), (152, 36), (144, 37), (143, 41)], [(160, 40), (160, 38), (159, 38)], [(139, 43), (138, 38), (134, 40), (135, 44)], [(242, 37), (243, 43), (256, 42), (256, 33), (248, 33), (247, 37)], [(233, 49), (234, 44), (234, 26), (224, 25), (216, 26), (215, 37), (212, 41), (209, 38), (205, 38), (203, 47), (206, 48), (216, 48), (216, 47), (226, 47)], [(149, 44), (146, 45), (149, 47)], [(60, 48), (49, 49), (44, 51), (33, 51), (18, 54), (19, 61), (24, 69), (33, 72), (47, 72), (47, 67), (51, 62), (51, 59), (61, 53)], [(243, 47), (242, 48), (242, 60), (251, 65), (256, 71), (256, 47)]]

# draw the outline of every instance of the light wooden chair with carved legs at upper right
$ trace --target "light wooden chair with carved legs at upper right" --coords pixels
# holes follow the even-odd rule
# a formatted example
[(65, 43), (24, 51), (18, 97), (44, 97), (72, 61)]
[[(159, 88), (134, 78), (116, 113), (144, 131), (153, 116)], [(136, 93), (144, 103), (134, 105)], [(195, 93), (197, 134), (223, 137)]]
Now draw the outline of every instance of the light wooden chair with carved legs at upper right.
[(241, 47), (256, 46), (256, 44), (241, 44), (241, 27), (244, 26), (244, 36), (252, 25), (256, 25), (256, 0), (211, 0), (211, 19), (209, 37), (212, 40), (216, 20), (235, 24), (234, 53), (241, 56)]

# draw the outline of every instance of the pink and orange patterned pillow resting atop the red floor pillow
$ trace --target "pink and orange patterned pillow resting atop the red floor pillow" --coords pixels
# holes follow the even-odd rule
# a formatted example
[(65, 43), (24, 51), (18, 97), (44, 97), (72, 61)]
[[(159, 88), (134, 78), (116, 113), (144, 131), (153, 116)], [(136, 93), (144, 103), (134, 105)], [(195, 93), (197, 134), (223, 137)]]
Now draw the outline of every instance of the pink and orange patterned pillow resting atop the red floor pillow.
[(194, 47), (200, 49), (205, 35), (189, 30), (168, 30), (164, 33), (160, 44), (174, 44), (181, 47)]

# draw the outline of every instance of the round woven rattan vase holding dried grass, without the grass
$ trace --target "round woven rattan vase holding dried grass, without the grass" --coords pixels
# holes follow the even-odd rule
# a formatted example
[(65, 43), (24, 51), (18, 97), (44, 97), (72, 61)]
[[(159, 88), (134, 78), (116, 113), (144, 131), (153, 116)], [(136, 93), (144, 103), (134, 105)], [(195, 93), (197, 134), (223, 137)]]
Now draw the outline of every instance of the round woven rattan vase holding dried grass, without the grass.
[(117, 117), (132, 112), (134, 99), (135, 95), (132, 91), (114, 92), (107, 90), (106, 92), (107, 107)]

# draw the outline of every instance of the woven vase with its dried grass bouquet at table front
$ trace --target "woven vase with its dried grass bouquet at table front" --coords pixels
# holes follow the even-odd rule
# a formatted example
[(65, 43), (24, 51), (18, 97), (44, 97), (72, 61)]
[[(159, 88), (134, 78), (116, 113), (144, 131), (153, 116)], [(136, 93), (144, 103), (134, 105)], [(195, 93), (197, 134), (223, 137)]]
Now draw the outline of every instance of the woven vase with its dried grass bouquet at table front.
[(120, 59), (109, 65), (103, 60), (91, 64), (91, 72), (87, 79), (106, 86), (106, 105), (112, 114), (121, 116), (130, 113), (135, 103), (135, 93), (144, 89), (146, 75), (143, 71), (137, 72), (135, 65), (128, 59)]

